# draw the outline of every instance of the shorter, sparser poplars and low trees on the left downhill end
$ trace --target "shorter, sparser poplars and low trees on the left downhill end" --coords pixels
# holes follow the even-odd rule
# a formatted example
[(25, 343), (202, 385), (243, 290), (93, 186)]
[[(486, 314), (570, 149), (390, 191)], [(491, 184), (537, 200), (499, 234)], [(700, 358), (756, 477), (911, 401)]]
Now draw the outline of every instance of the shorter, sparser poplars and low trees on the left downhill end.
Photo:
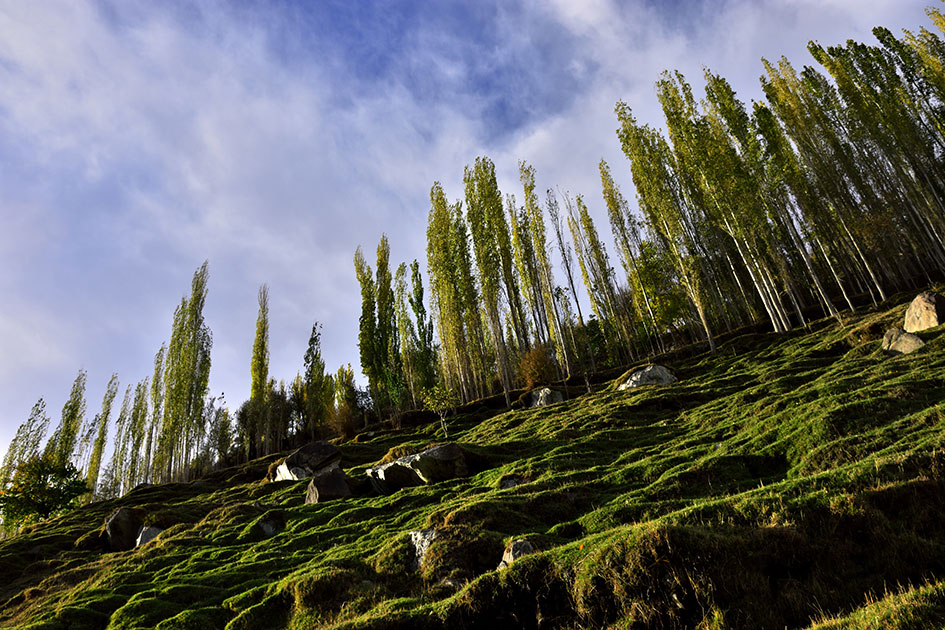
[[(41, 457), (56, 467), (74, 467), (90, 490), (87, 501), (116, 497), (141, 483), (187, 480), (223, 463), (279, 451), (293, 440), (315, 439), (326, 433), (329, 422), (347, 430), (359, 420), (354, 371), (348, 365), (334, 375), (325, 372), (317, 323), (304, 372), (288, 386), (269, 377), (266, 285), (259, 290), (249, 400), (231, 414), (222, 395), (210, 396), (212, 335), (203, 317), (208, 277), (205, 262), (194, 273), (190, 296), (174, 312), (170, 341), (155, 355), (153, 375), (127, 386), (117, 418), (117, 374), (108, 382), (101, 411), (87, 417), (87, 374), (80, 370), (48, 440), (45, 401), (33, 406), (0, 466), (0, 491), (25, 462)], [(110, 431), (114, 437), (106, 464)]]

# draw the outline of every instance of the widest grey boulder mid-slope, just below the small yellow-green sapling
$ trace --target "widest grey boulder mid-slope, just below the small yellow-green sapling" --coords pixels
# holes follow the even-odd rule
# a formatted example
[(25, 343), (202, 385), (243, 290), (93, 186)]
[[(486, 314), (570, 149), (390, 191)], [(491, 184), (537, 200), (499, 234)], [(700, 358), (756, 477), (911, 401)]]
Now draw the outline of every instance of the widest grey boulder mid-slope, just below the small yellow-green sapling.
[(465, 452), (454, 442), (440, 444), (422, 453), (407, 455), (367, 470), (371, 485), (380, 494), (465, 477), (467, 474), (469, 469)]

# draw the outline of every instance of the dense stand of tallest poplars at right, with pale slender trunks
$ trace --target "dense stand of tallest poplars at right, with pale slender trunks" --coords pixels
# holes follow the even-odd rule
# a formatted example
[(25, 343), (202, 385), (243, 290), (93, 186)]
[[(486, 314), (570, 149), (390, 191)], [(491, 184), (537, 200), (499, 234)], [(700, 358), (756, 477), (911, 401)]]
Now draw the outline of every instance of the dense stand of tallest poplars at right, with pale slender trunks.
[(788, 330), (810, 304), (836, 315), (836, 300), (875, 304), (945, 270), (945, 47), (874, 33), (876, 46), (811, 43), (827, 74), (765, 61), (767, 102), (750, 112), (718, 75), (697, 102), (664, 73), (668, 138), (618, 103), (648, 233), (710, 344), (713, 329), (760, 315)]

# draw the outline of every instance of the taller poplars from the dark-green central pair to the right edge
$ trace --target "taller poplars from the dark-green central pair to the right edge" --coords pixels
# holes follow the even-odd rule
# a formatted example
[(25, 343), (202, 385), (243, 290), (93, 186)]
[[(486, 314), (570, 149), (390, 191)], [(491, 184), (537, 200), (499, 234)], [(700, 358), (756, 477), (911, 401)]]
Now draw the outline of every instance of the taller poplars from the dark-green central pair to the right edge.
[[(945, 28), (939, 11), (929, 16)], [(826, 74), (764, 61), (766, 102), (750, 108), (721, 76), (706, 71), (697, 100), (680, 73), (665, 72), (656, 85), (665, 132), (618, 103), (639, 207), (630, 211), (601, 161), (619, 276), (584, 198), (548, 190), (541, 204), (527, 163), (521, 205), (503, 198), (488, 158), (466, 167), (462, 200), (435, 183), (431, 318), (416, 261), (408, 293), (404, 265), (392, 284), (386, 237), (376, 273), (355, 254), (361, 364), (378, 410), (416, 405), (434, 382), (462, 400), (501, 390), (508, 401), (536, 353), (558, 378), (586, 376), (686, 341), (714, 351), (719, 331), (759, 320), (787, 331), (940, 278), (945, 44), (926, 29), (874, 34), (877, 45), (811, 43)]]

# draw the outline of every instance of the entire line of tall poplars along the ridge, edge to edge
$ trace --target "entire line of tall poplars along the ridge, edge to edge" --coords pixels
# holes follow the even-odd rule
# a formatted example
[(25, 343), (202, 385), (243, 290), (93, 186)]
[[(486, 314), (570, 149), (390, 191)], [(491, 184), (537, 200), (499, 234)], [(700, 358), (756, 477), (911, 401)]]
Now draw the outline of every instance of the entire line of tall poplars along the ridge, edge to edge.
[[(945, 30), (940, 12), (929, 15)], [(48, 440), (42, 400), (19, 428), (0, 488), (24, 461), (44, 456), (76, 466), (92, 496), (117, 496), (141, 482), (186, 479), (329, 430), (345, 432), (368, 413), (435, 406), (431, 391), (460, 400), (501, 391), (510, 402), (510, 392), (538, 368), (545, 378), (550, 370), (551, 378), (586, 379), (681, 343), (714, 350), (720, 331), (759, 320), (786, 331), (941, 277), (945, 42), (926, 29), (901, 39), (882, 28), (874, 33), (877, 45), (812, 43), (826, 74), (798, 71), (786, 59), (765, 61), (766, 102), (750, 108), (708, 71), (700, 100), (679, 73), (662, 75), (665, 131), (639, 124), (618, 103), (617, 135), (639, 207), (631, 212), (602, 161), (620, 274), (585, 199), (547, 190), (542, 202), (525, 162), (521, 204), (503, 196), (485, 157), (466, 168), (462, 200), (450, 202), (435, 183), (428, 301), (416, 260), (392, 271), (386, 237), (374, 268), (360, 248), (355, 253), (367, 392), (356, 387), (350, 365), (326, 372), (318, 324), (303, 371), (288, 384), (270, 378), (264, 285), (250, 397), (231, 413), (208, 391), (204, 263), (174, 312), (153, 375), (126, 388), (115, 422), (117, 376), (101, 411), (86, 418), (80, 371)], [(563, 275), (553, 272), (553, 259)], [(593, 311), (586, 318), (580, 284)]]

